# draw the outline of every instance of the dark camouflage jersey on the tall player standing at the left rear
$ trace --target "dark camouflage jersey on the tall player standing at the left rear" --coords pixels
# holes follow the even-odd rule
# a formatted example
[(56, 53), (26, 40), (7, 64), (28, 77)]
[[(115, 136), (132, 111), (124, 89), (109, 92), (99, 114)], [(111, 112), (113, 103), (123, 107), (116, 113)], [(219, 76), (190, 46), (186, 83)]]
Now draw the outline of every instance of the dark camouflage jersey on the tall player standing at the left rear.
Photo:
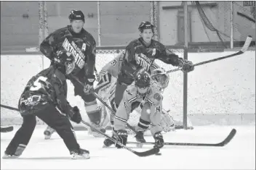
[[(73, 55), (76, 65), (71, 74), (83, 83), (87, 75), (93, 75), (95, 69), (96, 42), (92, 35), (84, 30), (84, 28), (81, 30), (81, 33), (74, 33), (71, 25), (56, 30), (54, 33), (49, 34), (41, 43), (40, 51), (51, 61), (54, 60), (53, 58), (57, 58), (57, 54), (60, 52), (65, 55)], [(83, 91), (77, 90), (76, 85), (74, 86), (75, 95), (83, 93)]]

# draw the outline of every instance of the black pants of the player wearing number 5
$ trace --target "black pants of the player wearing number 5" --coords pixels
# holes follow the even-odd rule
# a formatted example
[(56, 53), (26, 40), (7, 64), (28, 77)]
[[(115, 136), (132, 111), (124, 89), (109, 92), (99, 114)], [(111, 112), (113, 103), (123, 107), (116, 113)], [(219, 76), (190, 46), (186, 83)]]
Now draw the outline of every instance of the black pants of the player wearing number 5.
[(79, 151), (80, 147), (76, 141), (74, 130), (68, 117), (60, 113), (52, 104), (48, 104), (44, 109), (23, 116), (23, 124), (7, 146), (7, 154), (20, 156), (23, 153), (36, 127), (36, 116), (48, 124), (49, 127), (56, 130), (57, 134), (63, 138), (69, 151)]

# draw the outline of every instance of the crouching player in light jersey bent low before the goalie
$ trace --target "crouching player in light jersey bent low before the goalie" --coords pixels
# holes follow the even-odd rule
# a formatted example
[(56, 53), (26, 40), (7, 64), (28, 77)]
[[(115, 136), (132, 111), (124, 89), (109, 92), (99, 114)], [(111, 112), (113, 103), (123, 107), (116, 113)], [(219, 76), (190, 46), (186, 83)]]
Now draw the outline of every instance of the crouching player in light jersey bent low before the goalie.
[[(113, 131), (116, 132), (116, 139), (126, 145), (127, 130), (126, 124), (129, 114), (137, 107), (141, 107), (140, 122), (137, 127), (137, 135), (143, 134), (145, 129), (151, 124), (151, 134), (156, 143), (154, 147), (162, 148), (164, 139), (161, 135), (161, 108), (162, 108), (161, 91), (156, 83), (151, 82), (151, 77), (145, 69), (140, 69), (135, 75), (135, 85), (129, 85), (124, 91), (119, 108), (116, 111)], [(143, 136), (141, 136), (143, 137)], [(120, 145), (116, 145), (120, 148)]]

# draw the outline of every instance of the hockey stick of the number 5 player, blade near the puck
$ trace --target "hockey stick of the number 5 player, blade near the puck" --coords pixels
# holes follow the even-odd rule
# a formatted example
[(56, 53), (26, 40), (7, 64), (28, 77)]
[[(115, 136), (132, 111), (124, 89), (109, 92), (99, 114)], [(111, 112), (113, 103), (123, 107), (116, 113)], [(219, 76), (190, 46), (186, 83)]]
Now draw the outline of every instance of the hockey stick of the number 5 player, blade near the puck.
[(92, 129), (95, 129), (96, 132), (100, 133), (101, 135), (107, 137), (109, 140), (112, 140), (113, 143), (116, 143), (118, 145), (121, 145), (122, 148), (125, 148), (126, 150), (129, 150), (130, 152), (134, 153), (135, 155), (137, 156), (151, 156), (151, 155), (154, 155), (156, 153), (159, 153), (159, 148), (152, 148), (151, 150), (146, 150), (145, 152), (137, 152), (135, 150), (132, 150), (130, 148), (128, 148), (126, 145), (120, 143), (118, 140), (114, 140), (112, 137), (106, 135), (105, 133), (103, 132), (100, 132), (100, 130), (98, 130), (96, 127), (94, 127), (93, 125), (87, 123), (87, 122), (84, 122), (83, 120), (81, 121), (83, 124), (87, 125), (88, 127), (91, 127)]

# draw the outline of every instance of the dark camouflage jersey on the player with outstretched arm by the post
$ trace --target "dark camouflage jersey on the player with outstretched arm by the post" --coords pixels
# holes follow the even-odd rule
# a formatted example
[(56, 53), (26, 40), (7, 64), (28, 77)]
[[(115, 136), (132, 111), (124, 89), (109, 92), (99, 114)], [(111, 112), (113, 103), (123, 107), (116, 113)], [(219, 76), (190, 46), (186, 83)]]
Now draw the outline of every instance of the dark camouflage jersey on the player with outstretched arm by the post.
[(132, 41), (126, 48), (119, 72), (119, 80), (127, 85), (132, 84), (137, 70), (145, 68), (150, 72), (149, 69), (155, 59), (173, 66), (179, 64), (179, 57), (158, 41), (152, 40), (149, 46), (145, 45), (142, 38)]

